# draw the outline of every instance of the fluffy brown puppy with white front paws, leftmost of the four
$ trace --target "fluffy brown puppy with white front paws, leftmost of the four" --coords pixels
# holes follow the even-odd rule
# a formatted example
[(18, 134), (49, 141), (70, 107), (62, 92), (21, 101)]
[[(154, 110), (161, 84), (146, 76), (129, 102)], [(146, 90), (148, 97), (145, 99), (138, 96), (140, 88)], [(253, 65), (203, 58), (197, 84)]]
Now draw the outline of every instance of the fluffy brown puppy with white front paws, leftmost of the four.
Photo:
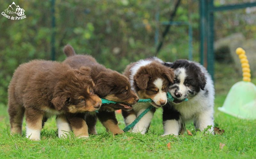
[[(26, 116), (26, 137), (40, 140), (42, 120), (57, 115), (59, 137), (69, 131), (88, 137), (88, 127), (73, 113), (98, 110), (101, 99), (93, 94), (91, 69), (70, 68), (59, 62), (33, 60), (21, 64), (13, 74), (8, 89), (8, 112), (11, 133), (22, 133), (22, 120)], [(67, 117), (68, 116), (68, 121)]]

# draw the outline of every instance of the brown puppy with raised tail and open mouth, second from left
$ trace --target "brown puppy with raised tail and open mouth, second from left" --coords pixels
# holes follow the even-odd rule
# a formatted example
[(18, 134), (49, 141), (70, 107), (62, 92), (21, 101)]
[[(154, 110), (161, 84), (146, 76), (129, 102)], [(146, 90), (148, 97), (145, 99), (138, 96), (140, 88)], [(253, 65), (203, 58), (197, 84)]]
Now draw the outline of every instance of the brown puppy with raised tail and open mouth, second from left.
[[(68, 56), (64, 63), (69, 64), (72, 68), (86, 66), (92, 69), (91, 76), (95, 83), (93, 88), (95, 94), (99, 95), (100, 98), (122, 102), (122, 104), (116, 105), (103, 105), (99, 113), (97, 113), (97, 116), (103, 126), (106, 127), (107, 131), (113, 134), (123, 133), (124, 131), (117, 125), (114, 111), (117, 109), (129, 111), (132, 109), (131, 105), (139, 100), (138, 96), (131, 90), (128, 78), (100, 65), (92, 56), (76, 55), (70, 45), (66, 45), (63, 51)], [(86, 123), (89, 128), (89, 133), (91, 134), (97, 133), (95, 129), (96, 121), (96, 115), (86, 115)]]

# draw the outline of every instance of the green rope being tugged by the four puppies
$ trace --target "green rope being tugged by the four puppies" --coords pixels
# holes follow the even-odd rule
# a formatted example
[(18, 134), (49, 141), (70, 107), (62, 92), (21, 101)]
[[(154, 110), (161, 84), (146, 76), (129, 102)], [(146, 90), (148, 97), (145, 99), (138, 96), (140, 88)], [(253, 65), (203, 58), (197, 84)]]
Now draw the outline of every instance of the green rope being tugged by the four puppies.
[[(172, 95), (167, 92), (167, 101), (173, 101), (174, 98), (172, 97)], [(115, 102), (115, 101), (111, 101), (111, 100), (108, 100), (108, 99), (104, 99), (104, 98), (101, 98), (101, 101), (102, 101), (102, 104), (118, 104), (118, 103), (121, 103), (121, 102)], [(187, 98), (183, 99), (182, 101), (188, 101)], [(148, 102), (153, 102), (152, 99), (139, 99), (137, 101), (138, 103), (148, 103)], [(147, 109), (145, 109), (130, 125), (126, 126), (123, 131), (124, 132), (127, 132), (129, 131), (130, 129), (132, 129), (135, 124), (137, 124), (140, 119), (146, 114), (148, 113), (148, 111), (150, 111), (151, 109), (153, 108), (153, 106), (149, 106)]]

